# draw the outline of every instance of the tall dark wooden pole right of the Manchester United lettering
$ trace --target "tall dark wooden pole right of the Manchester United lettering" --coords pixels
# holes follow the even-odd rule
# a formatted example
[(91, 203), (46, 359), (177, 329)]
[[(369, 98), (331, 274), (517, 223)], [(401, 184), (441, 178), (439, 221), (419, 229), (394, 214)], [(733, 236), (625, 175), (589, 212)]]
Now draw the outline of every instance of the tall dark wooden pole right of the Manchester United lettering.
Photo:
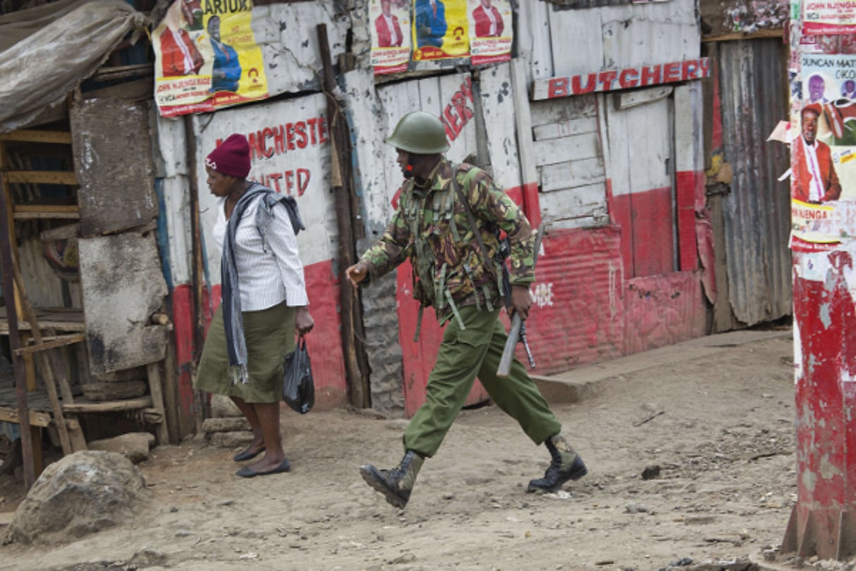
[(354, 289), (344, 279), (344, 271), (353, 265), (355, 256), (354, 237), (354, 199), (352, 199), (353, 176), (351, 172), (350, 131), (333, 92), (336, 79), (333, 76), (333, 64), (330, 59), (330, 43), (327, 39), (327, 26), (318, 24), (318, 48), (324, 64), (324, 93), (327, 95), (327, 123), (330, 128), (333, 160), (330, 181), (336, 195), (336, 229), (339, 234), (339, 271), (342, 279), (339, 285), (339, 302), (342, 316), (342, 352), (345, 356), (345, 370), (348, 374), (348, 387), (351, 405), (357, 408), (371, 407), (368, 386), (368, 366), (363, 335), (362, 312)]

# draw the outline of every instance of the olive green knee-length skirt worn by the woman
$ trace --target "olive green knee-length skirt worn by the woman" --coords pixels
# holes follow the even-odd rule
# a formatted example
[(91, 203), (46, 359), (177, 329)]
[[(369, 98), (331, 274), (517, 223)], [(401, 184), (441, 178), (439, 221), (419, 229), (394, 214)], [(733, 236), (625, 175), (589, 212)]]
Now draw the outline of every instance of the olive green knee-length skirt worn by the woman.
[(216, 395), (237, 396), (246, 402), (282, 400), (282, 357), (294, 351), (294, 307), (281, 304), (260, 312), (242, 312), (244, 338), (247, 341), (249, 383), (232, 383), (229, 354), (223, 328), (223, 305), (217, 307), (193, 388)]

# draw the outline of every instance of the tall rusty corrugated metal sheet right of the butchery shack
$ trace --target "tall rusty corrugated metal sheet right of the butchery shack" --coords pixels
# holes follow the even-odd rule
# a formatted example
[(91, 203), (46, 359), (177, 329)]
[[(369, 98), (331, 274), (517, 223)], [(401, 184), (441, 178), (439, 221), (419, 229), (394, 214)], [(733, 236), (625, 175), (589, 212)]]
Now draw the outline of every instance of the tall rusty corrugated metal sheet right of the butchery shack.
[(791, 313), (790, 195), (776, 179), (788, 170), (788, 148), (766, 142), (788, 115), (777, 39), (718, 45), (725, 160), (731, 192), (722, 198), (728, 263), (728, 300), (747, 325)]

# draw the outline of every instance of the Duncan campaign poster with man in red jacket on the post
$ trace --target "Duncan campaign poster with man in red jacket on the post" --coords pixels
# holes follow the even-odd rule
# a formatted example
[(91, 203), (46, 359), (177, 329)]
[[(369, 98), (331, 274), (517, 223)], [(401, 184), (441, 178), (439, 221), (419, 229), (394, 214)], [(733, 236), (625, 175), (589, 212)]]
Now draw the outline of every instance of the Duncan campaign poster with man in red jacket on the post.
[(856, 230), (856, 56), (802, 54), (800, 74), (792, 247), (817, 251)]

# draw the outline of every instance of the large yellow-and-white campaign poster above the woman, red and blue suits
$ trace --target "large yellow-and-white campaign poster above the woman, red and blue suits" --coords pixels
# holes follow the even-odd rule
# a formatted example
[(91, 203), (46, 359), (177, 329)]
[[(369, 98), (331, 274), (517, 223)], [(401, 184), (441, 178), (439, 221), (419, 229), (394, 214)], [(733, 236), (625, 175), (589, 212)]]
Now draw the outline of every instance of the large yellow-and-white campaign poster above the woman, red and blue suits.
[[(235, 6), (238, 9), (229, 9)], [(152, 33), (155, 102), (162, 116), (209, 112), (268, 97), (252, 14), (249, 0), (170, 4)]]

